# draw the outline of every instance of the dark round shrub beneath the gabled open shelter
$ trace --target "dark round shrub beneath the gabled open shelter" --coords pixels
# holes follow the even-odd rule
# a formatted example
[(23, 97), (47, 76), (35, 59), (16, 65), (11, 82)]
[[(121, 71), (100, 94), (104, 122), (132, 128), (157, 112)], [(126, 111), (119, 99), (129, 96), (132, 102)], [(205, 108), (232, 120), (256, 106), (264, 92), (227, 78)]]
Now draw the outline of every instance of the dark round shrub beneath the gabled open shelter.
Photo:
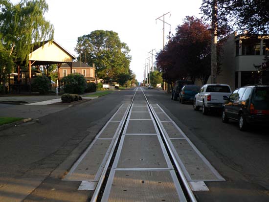
[(50, 80), (45, 75), (40, 75), (34, 78), (31, 88), (33, 91), (44, 94), (46, 91), (50, 90), (50, 87)]

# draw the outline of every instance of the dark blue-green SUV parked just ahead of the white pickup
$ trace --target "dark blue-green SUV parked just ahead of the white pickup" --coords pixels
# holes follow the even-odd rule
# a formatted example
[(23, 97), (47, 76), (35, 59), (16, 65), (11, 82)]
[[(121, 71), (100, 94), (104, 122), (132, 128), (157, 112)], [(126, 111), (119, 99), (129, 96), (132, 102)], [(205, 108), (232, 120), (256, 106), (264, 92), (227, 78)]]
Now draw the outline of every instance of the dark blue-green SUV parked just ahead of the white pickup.
[(179, 102), (184, 104), (185, 102), (193, 102), (194, 96), (199, 92), (200, 87), (196, 85), (185, 85), (180, 90)]

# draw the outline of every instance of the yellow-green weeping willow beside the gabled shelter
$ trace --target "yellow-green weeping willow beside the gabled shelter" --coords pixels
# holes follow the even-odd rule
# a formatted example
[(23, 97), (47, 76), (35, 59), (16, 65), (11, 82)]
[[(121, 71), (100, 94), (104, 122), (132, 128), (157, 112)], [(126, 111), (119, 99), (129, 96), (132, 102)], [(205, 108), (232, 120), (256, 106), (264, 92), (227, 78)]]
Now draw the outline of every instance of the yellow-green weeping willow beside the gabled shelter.
[[(44, 14), (48, 11), (45, 0), (21, 0), (12, 4), (9, 0), (0, 0), (0, 54), (6, 55), (17, 61), (26, 61), (34, 45), (40, 45), (45, 40), (53, 39), (53, 25), (45, 20)], [(5, 52), (2, 52), (5, 50)], [(6, 57), (2, 57), (6, 58)], [(9, 60), (9, 61), (8, 61)], [(2, 78), (7, 70), (10, 59), (0, 64)], [(3, 70), (5, 69), (5, 70)]]

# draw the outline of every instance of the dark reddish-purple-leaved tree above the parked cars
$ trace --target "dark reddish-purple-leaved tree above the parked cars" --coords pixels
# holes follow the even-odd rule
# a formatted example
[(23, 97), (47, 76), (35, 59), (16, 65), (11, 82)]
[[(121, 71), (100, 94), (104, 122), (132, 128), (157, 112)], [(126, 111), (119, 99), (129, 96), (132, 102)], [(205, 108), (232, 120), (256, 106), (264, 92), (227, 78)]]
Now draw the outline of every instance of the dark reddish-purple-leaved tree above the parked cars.
[(187, 16), (164, 50), (157, 53), (157, 68), (171, 85), (176, 80), (191, 79), (194, 82), (198, 78), (203, 83), (207, 81), (211, 53), (208, 27), (201, 19)]

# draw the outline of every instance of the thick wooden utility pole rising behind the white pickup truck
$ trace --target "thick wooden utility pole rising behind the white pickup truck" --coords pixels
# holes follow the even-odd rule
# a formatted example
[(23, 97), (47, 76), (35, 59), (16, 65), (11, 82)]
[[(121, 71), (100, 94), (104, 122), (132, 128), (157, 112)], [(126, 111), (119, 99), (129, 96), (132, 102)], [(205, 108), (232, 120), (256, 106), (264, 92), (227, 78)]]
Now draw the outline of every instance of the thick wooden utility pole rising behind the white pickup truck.
[(217, 83), (217, 0), (212, 1), (212, 26), (211, 26), (211, 84)]

